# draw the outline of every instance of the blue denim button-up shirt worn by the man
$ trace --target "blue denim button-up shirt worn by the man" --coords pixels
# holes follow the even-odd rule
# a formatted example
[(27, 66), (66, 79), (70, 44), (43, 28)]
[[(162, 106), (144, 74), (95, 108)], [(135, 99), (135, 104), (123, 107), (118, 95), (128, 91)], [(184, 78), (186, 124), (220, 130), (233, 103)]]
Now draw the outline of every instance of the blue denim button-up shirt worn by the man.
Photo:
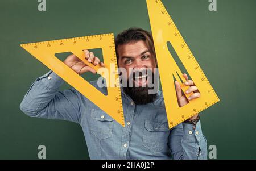
[[(207, 159), (200, 121), (168, 128), (162, 91), (146, 105), (135, 105), (122, 90), (125, 127), (75, 89), (59, 91), (63, 80), (50, 71), (36, 79), (20, 104), (31, 117), (79, 123), (90, 159)], [(90, 82), (102, 93), (106, 88)]]

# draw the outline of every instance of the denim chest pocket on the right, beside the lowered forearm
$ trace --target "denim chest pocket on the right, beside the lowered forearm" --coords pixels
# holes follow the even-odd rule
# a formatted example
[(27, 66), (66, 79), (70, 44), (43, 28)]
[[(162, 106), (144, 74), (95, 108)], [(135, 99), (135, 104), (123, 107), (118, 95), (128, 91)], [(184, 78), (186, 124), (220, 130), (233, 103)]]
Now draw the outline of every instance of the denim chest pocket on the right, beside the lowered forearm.
[(146, 121), (144, 124), (142, 145), (154, 154), (168, 148), (170, 130), (168, 123)]

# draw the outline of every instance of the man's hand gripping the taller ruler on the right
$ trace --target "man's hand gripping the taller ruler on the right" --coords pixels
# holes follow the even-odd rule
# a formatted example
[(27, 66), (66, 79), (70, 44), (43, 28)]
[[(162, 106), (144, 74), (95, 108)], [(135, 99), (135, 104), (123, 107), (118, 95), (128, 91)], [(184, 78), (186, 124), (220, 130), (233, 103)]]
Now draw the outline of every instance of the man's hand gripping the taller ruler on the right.
[[(197, 87), (195, 86), (194, 82), (192, 80), (188, 80), (188, 76), (185, 73), (183, 74), (183, 77), (187, 80), (187, 81), (184, 82), (184, 84), (189, 86), (188, 90), (186, 90), (185, 93), (189, 94), (189, 93), (193, 92), (193, 94), (190, 97), (188, 97), (189, 101), (191, 101), (192, 99), (195, 99), (195, 98), (199, 98), (200, 93), (197, 90)], [(177, 99), (178, 99), (179, 106), (182, 107), (184, 105), (187, 105), (188, 99), (182, 93), (179, 82), (175, 81), (175, 87), (176, 87), (176, 94), (177, 94)], [(191, 119), (191, 120), (195, 119), (195, 118), (197, 118), (197, 116), (198, 116), (198, 114), (195, 115), (195, 116), (192, 116), (189, 119)]]

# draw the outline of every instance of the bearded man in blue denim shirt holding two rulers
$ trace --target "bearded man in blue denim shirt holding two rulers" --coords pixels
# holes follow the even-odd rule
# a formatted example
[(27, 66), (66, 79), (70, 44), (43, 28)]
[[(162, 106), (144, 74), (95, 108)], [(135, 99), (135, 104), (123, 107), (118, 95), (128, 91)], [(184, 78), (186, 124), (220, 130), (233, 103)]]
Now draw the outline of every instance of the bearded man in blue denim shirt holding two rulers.
[[(90, 159), (207, 159), (207, 141), (201, 130), (199, 115), (169, 129), (162, 91), (158, 80), (154, 42), (150, 32), (129, 28), (115, 37), (118, 68), (122, 73), (122, 104), (125, 127), (75, 89), (59, 91), (63, 80), (49, 71), (36, 79), (24, 96), (20, 109), (31, 117), (63, 119), (79, 123), (84, 132)], [(93, 52), (84, 51), (88, 62), (104, 67)], [(96, 73), (75, 55), (64, 63), (78, 74)], [(121, 72), (120, 72), (121, 74)], [(189, 100), (200, 97), (187, 74), (184, 82), (194, 92)], [(156, 80), (156, 81), (155, 81)], [(153, 87), (149, 86), (150, 82)], [(96, 81), (90, 82), (102, 93)], [(174, 82), (177, 101), (188, 103), (179, 82)], [(156, 90), (151, 91), (150, 90)], [(111, 104), (110, 104), (111, 105)], [(171, 104), (170, 104), (171, 105)]]

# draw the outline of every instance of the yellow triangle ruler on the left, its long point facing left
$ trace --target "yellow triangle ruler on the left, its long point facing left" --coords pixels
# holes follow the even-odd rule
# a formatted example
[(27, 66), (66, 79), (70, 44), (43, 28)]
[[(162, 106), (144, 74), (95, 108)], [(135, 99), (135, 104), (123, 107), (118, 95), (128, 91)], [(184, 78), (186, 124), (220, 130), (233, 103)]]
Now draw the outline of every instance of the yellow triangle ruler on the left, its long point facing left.
[[(53, 72), (63, 78), (63, 80), (73, 86), (76, 90), (80, 91), (81, 94), (100, 107), (100, 109), (105, 111), (119, 124), (121, 124), (123, 127), (125, 126), (113, 34), (43, 41), (38, 43), (21, 44), (20, 46), (26, 49), (26, 51), (28, 51), (32, 56), (36, 57), (36, 59), (41, 61), (49, 69), (53, 70)], [(79, 59), (85, 62), (86, 65), (91, 66), (97, 71), (100, 69), (100, 66), (94, 66), (85, 60), (85, 54), (82, 51), (84, 49), (95, 48), (102, 48), (105, 68), (108, 71), (113, 70), (113, 68), (110, 69), (110, 64), (114, 66), (114, 71), (108, 72), (109, 77), (105, 78), (106, 85), (110, 84), (111, 78), (115, 78), (115, 85), (107, 87), (108, 95), (102, 94), (99, 90), (84, 80), (84, 78), (79, 76), (79, 74), (65, 65), (55, 56), (56, 53), (72, 52), (74, 55), (79, 57)], [(104, 76), (104, 74), (102, 74), (102, 76)]]

